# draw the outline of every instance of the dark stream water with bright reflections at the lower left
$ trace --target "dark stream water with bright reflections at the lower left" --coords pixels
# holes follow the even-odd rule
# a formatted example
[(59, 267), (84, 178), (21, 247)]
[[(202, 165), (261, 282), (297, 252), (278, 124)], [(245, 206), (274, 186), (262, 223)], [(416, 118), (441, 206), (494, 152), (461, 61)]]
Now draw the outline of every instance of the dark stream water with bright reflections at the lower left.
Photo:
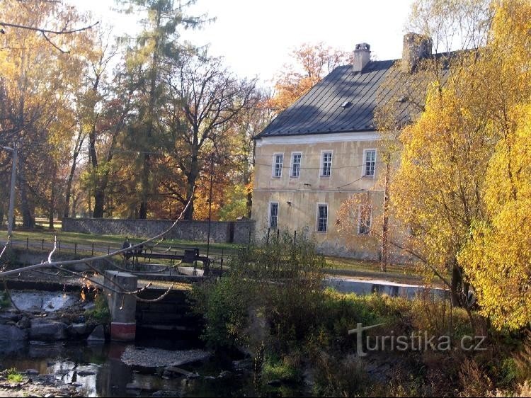
[[(155, 347), (182, 350), (197, 348), (197, 343), (176, 340), (139, 340), (136, 347)], [(0, 368), (38, 370), (53, 374), (67, 383), (79, 383), (79, 391), (86, 397), (151, 397), (164, 391), (181, 397), (282, 397), (302, 396), (299, 386), (256, 388), (253, 373), (235, 375), (232, 360), (212, 358), (205, 363), (183, 365), (181, 368), (197, 372), (200, 377), (166, 378), (151, 368), (125, 365), (120, 356), (127, 344), (120, 343), (29, 343), (0, 347)], [(224, 370), (233, 375), (219, 377)], [(131, 385), (141, 387), (132, 390)]]

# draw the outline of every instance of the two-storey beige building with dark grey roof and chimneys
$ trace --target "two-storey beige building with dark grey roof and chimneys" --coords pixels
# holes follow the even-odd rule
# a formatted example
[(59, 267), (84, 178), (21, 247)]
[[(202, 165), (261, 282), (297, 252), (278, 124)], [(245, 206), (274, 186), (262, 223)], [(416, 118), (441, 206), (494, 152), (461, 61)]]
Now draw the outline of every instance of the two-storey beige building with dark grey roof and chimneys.
[[(380, 258), (375, 224), (382, 219), (385, 166), (375, 109), (389, 101), (384, 82), (411, 84), (423, 57), (432, 57), (431, 41), (413, 33), (404, 36), (400, 68), (393, 67), (395, 60), (371, 61), (370, 45), (358, 44), (353, 64), (334, 69), (256, 137), (257, 234), (268, 228), (308, 229), (326, 254)], [(401, 102), (399, 117), (407, 123), (415, 110)], [(346, 230), (337, 212), (353, 195), (362, 200), (351, 206), (353, 220)], [(402, 239), (406, 230), (392, 233)], [(389, 255), (401, 259), (391, 247)]]

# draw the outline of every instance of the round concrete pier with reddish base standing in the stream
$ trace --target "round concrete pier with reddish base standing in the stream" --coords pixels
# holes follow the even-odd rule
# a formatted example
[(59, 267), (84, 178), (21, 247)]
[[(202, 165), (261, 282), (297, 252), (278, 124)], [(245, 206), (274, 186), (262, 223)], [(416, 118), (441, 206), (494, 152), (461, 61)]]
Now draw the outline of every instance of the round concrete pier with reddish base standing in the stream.
[[(121, 271), (105, 271), (105, 285), (115, 290), (131, 292), (137, 290), (137, 275)], [(134, 341), (137, 333), (135, 319), (137, 299), (134, 295), (124, 295), (109, 290), (110, 339), (115, 341)]]

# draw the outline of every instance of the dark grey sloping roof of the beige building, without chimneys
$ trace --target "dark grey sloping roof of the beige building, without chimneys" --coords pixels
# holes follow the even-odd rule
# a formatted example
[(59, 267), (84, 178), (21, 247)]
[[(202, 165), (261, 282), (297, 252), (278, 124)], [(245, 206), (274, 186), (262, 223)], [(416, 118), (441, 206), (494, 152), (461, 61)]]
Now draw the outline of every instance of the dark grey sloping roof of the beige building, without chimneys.
[[(371, 61), (362, 72), (353, 72), (351, 65), (333, 69), (308, 93), (280, 113), (257, 138), (376, 130), (374, 111), (377, 102), (386, 99), (381, 89), (382, 82), (389, 76), (397, 85), (404, 84), (399, 68), (392, 68), (394, 62)], [(411, 79), (406, 80), (411, 84)], [(389, 85), (384, 87), (389, 89)], [(347, 101), (350, 105), (343, 108), (341, 105)], [(404, 102), (400, 117), (402, 122), (407, 122), (411, 120), (413, 110)]]

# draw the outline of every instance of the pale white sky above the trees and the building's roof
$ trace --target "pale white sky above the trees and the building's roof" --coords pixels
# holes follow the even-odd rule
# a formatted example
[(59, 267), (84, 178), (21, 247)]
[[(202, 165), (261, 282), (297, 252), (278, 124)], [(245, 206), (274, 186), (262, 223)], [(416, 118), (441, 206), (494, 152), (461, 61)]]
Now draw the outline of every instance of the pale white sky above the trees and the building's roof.
[[(137, 16), (110, 10), (111, 0), (69, 0), (91, 11), (116, 34), (134, 34)], [(291, 62), (290, 52), (308, 42), (324, 42), (343, 51), (367, 42), (375, 59), (401, 57), (404, 23), (412, 0), (197, 0), (190, 15), (207, 13), (216, 21), (181, 37), (209, 45), (241, 77), (258, 76), (273, 86), (275, 74)]]

